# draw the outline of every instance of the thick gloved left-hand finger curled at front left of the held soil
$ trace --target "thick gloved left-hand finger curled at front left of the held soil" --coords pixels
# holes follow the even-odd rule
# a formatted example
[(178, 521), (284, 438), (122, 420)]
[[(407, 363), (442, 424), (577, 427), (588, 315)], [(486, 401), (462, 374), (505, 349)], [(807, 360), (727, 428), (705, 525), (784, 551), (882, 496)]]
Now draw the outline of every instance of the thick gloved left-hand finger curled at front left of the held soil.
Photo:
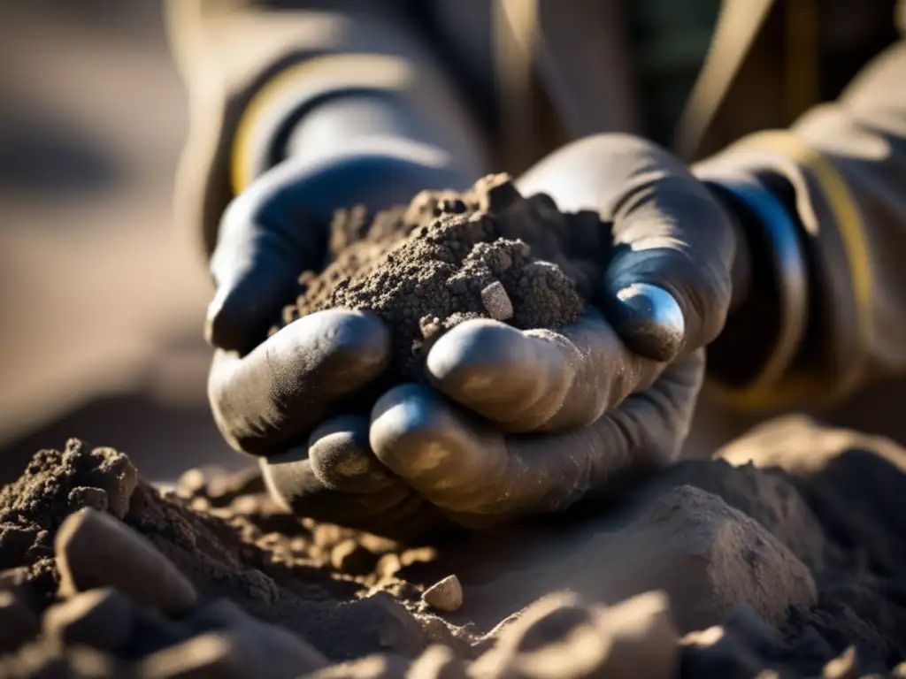
[(331, 309), (304, 316), (245, 357), (217, 351), (207, 391), (214, 418), (236, 450), (288, 445), (390, 362), (390, 331), (376, 316)]

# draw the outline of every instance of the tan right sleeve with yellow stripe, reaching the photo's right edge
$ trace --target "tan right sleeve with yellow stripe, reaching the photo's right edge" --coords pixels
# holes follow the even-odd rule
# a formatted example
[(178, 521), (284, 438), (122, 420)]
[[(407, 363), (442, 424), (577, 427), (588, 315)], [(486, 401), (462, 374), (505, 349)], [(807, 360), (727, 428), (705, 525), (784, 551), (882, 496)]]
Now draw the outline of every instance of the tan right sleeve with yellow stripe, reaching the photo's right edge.
[[(795, 243), (787, 232), (775, 259), (785, 260), (778, 270), (793, 272), (780, 277), (780, 299), (787, 315), (805, 319), (803, 330), (773, 378), (730, 389), (729, 400), (823, 406), (906, 372), (906, 41), (877, 57), (839, 100), (789, 130), (741, 139), (704, 166), (702, 175), (743, 203), (759, 203), (763, 222), (773, 209), (775, 232), (785, 219), (795, 223)], [(758, 186), (777, 205), (747, 200)], [(760, 293), (764, 286), (750, 296)]]

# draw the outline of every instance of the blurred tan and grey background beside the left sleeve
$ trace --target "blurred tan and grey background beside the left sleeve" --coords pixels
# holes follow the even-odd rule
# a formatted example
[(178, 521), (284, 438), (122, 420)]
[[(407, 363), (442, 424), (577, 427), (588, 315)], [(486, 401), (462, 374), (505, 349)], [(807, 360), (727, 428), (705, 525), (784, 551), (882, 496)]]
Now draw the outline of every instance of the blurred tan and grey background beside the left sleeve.
[(248, 462), (207, 409), (210, 287), (172, 225), (187, 110), (159, 5), (0, 2), (0, 483), (69, 436), (151, 480)]

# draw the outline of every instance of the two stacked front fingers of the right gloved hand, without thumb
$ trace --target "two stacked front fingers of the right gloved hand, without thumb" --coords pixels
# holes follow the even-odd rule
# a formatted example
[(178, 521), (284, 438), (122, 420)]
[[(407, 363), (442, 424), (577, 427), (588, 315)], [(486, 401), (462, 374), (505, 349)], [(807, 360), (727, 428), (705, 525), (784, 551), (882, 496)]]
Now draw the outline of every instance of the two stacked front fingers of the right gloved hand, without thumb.
[(428, 371), (433, 387), (379, 399), (371, 448), (448, 519), (487, 527), (562, 511), (669, 464), (704, 357), (645, 359), (589, 310), (560, 332), (467, 321), (431, 349)]

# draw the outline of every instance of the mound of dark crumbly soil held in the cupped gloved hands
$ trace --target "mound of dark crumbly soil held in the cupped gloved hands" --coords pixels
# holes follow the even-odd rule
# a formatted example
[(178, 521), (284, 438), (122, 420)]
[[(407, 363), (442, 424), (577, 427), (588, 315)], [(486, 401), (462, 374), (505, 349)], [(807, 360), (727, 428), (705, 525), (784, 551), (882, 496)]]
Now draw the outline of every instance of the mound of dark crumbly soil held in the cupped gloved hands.
[(506, 175), (462, 194), (426, 191), (377, 215), (340, 210), (323, 271), (302, 273), (282, 322), (333, 307), (372, 311), (391, 330), (390, 377), (419, 380), (426, 349), (464, 320), (522, 330), (578, 320), (611, 244), (596, 213), (523, 197)]

